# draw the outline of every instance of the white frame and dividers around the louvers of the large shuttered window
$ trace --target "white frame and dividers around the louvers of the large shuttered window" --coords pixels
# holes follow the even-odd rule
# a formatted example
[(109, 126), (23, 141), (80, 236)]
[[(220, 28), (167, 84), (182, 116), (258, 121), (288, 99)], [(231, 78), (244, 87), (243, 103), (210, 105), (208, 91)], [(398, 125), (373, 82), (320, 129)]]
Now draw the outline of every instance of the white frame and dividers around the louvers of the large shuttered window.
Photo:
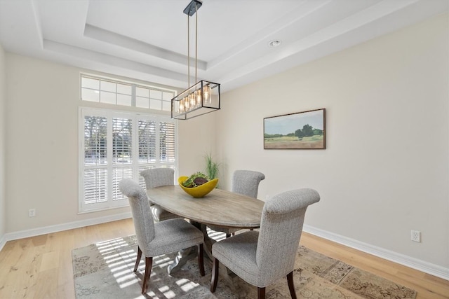
[[(107, 118), (107, 164), (106, 165), (85, 165), (85, 140), (84, 140), (84, 118), (85, 116), (100, 116)], [(130, 164), (124, 165), (113, 165), (112, 157), (112, 118), (130, 118), (133, 120), (132, 128), (132, 159)], [(138, 146), (138, 120), (152, 120), (156, 122), (156, 153), (154, 162), (141, 163), (139, 161), (139, 146)], [(173, 162), (163, 162), (159, 159), (160, 157), (160, 131), (159, 123), (173, 123), (175, 125), (175, 160)], [(144, 113), (133, 113), (129, 111), (116, 111), (109, 109), (95, 109), (90, 107), (79, 107), (79, 214), (100, 211), (105, 209), (114, 209), (118, 207), (128, 207), (128, 198), (123, 197), (121, 200), (113, 200), (112, 193), (112, 172), (114, 168), (119, 167), (131, 167), (133, 180), (139, 181), (141, 186), (145, 186), (145, 181), (140, 176), (139, 172), (142, 167), (152, 168), (152, 167), (170, 167), (177, 169), (177, 156), (178, 156), (178, 146), (177, 146), (177, 121), (170, 118), (170, 116), (164, 115), (150, 115)], [(107, 199), (105, 202), (95, 202), (86, 203), (84, 198), (84, 171), (89, 168), (101, 168), (107, 169)]]

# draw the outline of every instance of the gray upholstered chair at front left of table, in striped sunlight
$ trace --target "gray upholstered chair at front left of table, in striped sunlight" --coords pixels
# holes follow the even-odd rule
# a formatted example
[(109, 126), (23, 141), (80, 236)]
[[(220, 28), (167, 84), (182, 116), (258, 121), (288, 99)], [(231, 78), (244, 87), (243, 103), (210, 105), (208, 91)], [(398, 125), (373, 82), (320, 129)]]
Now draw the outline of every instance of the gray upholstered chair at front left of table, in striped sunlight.
[(138, 239), (138, 257), (135, 260), (134, 272), (138, 270), (142, 254), (145, 256), (142, 294), (147, 291), (154, 256), (198, 246), (199, 270), (201, 276), (204, 276), (203, 232), (181, 218), (154, 223), (147, 193), (135, 181), (123, 179), (119, 183), (119, 189), (128, 197)]

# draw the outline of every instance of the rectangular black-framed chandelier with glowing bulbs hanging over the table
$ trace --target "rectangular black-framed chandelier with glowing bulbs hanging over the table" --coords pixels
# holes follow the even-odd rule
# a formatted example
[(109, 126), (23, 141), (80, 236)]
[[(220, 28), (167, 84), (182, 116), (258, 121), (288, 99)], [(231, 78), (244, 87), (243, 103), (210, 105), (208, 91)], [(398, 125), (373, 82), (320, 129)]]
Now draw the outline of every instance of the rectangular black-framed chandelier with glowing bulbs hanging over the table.
[[(196, 81), (198, 58), (198, 9), (203, 5), (192, 0), (184, 9), (187, 15), (187, 90), (171, 99), (171, 118), (187, 120), (220, 109), (220, 84), (210, 81)], [(195, 20), (195, 84), (190, 86), (190, 17)]]

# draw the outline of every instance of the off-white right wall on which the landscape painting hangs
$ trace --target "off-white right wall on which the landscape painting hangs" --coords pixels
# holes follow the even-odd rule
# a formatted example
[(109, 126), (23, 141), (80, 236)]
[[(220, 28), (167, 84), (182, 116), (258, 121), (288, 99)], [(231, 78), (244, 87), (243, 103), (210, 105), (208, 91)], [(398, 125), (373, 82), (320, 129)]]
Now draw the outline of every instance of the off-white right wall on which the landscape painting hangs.
[[(224, 187), (255, 169), (262, 200), (315, 188), (309, 227), (449, 269), (448, 35), (440, 15), (225, 93)], [(264, 117), (321, 108), (326, 150), (263, 149)]]

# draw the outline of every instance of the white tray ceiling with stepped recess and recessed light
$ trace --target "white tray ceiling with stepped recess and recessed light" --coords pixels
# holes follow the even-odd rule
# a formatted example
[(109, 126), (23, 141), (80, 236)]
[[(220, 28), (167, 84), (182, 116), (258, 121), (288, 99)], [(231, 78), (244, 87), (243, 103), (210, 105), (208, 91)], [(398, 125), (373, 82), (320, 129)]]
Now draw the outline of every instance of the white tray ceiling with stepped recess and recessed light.
[[(189, 0), (0, 0), (0, 43), (12, 53), (187, 88), (187, 15), (182, 12), (187, 4)], [(448, 4), (203, 0), (197, 13), (198, 79), (232, 90), (443, 13)], [(190, 18), (191, 57), (194, 21), (195, 15)], [(274, 39), (281, 46), (270, 48)]]

